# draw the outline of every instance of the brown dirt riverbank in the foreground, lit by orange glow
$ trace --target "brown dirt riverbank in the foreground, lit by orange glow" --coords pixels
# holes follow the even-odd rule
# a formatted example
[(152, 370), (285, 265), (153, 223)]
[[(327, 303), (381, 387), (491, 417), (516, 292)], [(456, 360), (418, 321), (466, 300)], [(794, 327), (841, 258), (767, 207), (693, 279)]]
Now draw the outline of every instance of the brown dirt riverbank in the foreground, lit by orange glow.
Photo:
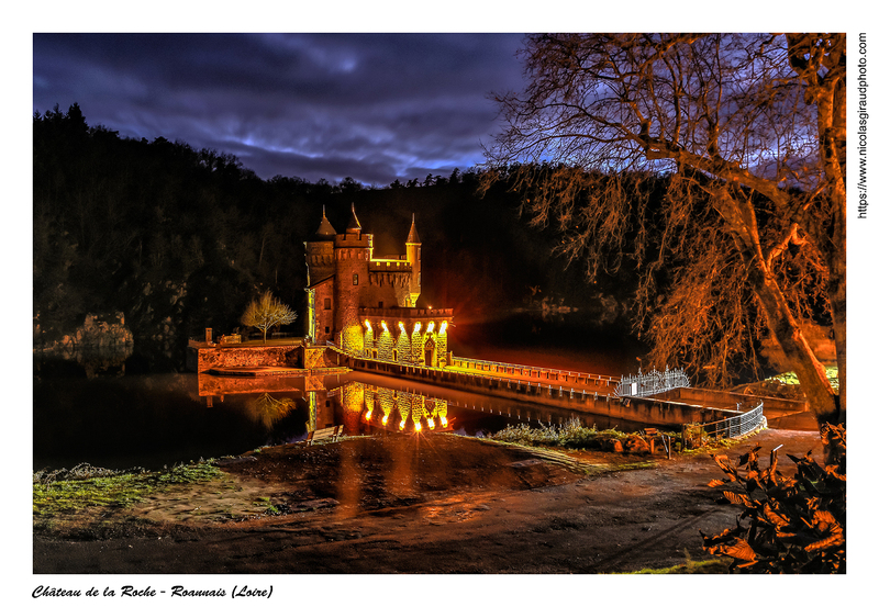
[[(706, 558), (738, 509), (710, 452), (821, 452), (769, 429), (675, 456), (548, 451), (449, 435), (283, 446), (129, 508), (35, 528), (34, 573), (609, 573)], [(787, 467), (787, 458), (782, 463)]]

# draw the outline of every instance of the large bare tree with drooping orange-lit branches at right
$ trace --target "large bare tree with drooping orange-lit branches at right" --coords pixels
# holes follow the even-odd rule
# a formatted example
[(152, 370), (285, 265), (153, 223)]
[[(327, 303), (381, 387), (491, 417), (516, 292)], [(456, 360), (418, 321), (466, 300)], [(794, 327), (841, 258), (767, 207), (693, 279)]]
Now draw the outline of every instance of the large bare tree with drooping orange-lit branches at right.
[[(530, 85), (498, 97), (483, 187), (512, 182), (592, 272), (633, 251), (655, 360), (719, 379), (766, 330), (819, 421), (844, 421), (845, 35), (534, 35), (521, 53)], [(803, 330), (822, 315), (838, 396)]]

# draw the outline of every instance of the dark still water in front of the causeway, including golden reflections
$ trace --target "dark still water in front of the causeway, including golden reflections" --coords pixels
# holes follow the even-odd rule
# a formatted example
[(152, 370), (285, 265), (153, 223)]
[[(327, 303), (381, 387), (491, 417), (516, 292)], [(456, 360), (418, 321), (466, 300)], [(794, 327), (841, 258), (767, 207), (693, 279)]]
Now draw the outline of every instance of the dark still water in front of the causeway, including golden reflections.
[(370, 435), (412, 432), (418, 423), (423, 432), (480, 436), (511, 424), (558, 425), (576, 416), (600, 428), (637, 427), (364, 373), (305, 381), (194, 373), (86, 378), (43, 366), (34, 376), (33, 468), (160, 468), (296, 442), (329, 425)]

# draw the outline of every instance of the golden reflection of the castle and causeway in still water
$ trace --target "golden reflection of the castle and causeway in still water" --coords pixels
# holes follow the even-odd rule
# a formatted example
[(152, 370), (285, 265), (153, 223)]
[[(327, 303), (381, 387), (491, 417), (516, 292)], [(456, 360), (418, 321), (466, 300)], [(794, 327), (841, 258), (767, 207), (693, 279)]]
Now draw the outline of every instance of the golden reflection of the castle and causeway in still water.
[[(432, 432), (480, 436), (511, 424), (587, 426), (628, 430), (634, 423), (391, 380), (365, 373), (288, 378), (200, 374), (208, 407), (232, 407), (266, 429), (267, 445), (297, 442), (309, 432), (342, 426), (344, 436)], [(634, 428), (636, 429), (636, 427)]]

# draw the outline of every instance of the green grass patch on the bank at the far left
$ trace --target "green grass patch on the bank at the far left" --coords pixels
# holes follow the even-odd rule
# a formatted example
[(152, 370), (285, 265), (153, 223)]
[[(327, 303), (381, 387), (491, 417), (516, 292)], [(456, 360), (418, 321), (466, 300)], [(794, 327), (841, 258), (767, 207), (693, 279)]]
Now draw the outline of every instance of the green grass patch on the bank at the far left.
[(124, 508), (171, 485), (209, 481), (222, 474), (207, 462), (179, 464), (160, 471), (115, 471), (79, 464), (71, 470), (40, 471), (33, 475), (35, 519), (88, 508)]

